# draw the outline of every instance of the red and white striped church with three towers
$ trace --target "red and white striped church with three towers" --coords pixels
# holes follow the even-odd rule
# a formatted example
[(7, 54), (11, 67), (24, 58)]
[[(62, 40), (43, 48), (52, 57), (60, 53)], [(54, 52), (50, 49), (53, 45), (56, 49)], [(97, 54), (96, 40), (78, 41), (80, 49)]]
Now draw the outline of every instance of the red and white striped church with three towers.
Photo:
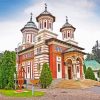
[[(24, 69), (25, 79), (39, 79), (43, 63), (47, 63), (53, 79), (83, 79), (84, 48), (74, 40), (76, 28), (66, 17), (59, 29), (62, 39), (53, 32), (56, 17), (45, 10), (36, 17), (38, 27), (32, 20), (21, 29), (22, 44), (17, 48), (17, 71)], [(82, 37), (80, 37), (82, 38)]]

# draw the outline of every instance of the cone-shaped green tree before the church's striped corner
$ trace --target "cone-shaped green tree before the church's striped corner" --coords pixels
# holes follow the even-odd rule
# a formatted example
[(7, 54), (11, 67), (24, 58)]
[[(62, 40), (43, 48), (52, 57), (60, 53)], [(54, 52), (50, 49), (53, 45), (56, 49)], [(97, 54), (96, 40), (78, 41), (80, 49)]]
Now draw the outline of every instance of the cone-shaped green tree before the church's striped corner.
[(44, 63), (40, 75), (41, 87), (47, 88), (51, 83), (52, 83), (52, 75), (51, 75), (50, 68), (47, 63)]

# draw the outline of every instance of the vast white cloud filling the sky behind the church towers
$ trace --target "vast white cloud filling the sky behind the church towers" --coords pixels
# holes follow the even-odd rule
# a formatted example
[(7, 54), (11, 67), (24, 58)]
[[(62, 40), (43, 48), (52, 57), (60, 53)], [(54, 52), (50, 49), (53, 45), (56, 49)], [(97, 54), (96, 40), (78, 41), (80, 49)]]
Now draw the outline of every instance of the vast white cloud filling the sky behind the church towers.
[[(10, 36), (9, 39), (14, 39), (13, 41), (15, 41), (15, 44), (16, 42), (20, 42), (22, 36), (19, 30), (29, 20), (29, 14), (31, 12), (33, 13), (33, 21), (37, 24), (35, 17), (44, 11), (45, 2), (48, 5), (48, 11), (56, 17), (54, 32), (59, 35), (58, 38), (61, 39), (59, 29), (65, 23), (65, 16), (68, 16), (69, 23), (76, 27), (75, 40), (79, 42), (80, 46), (86, 49), (86, 52), (91, 52), (95, 41), (97, 39), (99, 40), (100, 34), (100, 21), (99, 17), (94, 12), (96, 2), (93, 0), (37, 0), (35, 3), (33, 2), (31, 6), (24, 9), (23, 17), (18, 16), (18, 21), (0, 23), (0, 30), (2, 30), (2, 24), (3, 27), (6, 27), (6, 31), (1, 31), (1, 33)], [(8, 26), (10, 27), (8, 28)], [(12, 41), (12, 39), (10, 41)]]

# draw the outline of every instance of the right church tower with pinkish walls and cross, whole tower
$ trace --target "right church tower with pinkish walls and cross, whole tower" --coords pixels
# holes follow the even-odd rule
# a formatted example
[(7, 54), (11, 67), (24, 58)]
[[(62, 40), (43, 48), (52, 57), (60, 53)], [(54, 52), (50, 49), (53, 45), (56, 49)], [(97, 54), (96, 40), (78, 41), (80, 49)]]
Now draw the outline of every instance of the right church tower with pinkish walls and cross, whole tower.
[(75, 27), (69, 24), (68, 17), (66, 16), (66, 23), (62, 26), (62, 28), (60, 28), (60, 32), (62, 33), (62, 40), (67, 43), (77, 45), (78, 43), (74, 41), (75, 29)]

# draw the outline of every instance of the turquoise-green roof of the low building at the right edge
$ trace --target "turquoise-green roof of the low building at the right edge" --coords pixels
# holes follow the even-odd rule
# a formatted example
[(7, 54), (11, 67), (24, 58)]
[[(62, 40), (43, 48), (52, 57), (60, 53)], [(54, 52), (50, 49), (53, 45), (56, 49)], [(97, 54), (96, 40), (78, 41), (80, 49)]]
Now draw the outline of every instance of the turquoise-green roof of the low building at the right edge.
[(86, 68), (91, 67), (92, 70), (99, 70), (100, 69), (100, 64), (96, 60), (85, 60), (84, 64)]

